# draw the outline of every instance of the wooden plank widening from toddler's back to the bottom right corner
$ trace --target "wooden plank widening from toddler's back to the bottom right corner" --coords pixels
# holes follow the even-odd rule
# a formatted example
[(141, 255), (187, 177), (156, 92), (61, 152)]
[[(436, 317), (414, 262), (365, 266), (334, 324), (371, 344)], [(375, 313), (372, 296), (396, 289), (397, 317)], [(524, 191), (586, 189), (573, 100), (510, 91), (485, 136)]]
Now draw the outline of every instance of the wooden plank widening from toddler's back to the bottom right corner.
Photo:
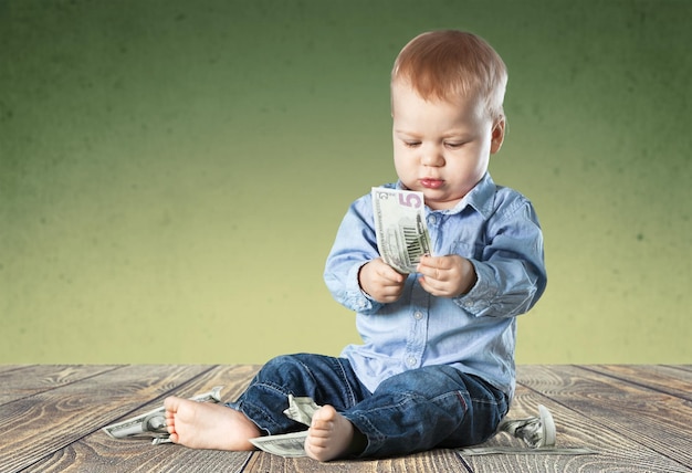
[[(522, 366), (518, 382), (583, 414), (586, 425), (616, 432), (681, 466), (692, 465), (692, 404), (574, 366)], [(599, 442), (607, 434), (596, 437)]]

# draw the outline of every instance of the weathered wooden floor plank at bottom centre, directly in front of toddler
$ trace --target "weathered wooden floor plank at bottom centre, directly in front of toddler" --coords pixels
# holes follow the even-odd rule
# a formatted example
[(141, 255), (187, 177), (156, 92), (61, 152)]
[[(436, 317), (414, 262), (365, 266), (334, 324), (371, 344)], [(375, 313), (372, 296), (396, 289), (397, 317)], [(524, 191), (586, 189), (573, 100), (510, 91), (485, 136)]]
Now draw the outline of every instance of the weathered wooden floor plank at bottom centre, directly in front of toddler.
[(382, 460), (344, 460), (322, 463), (308, 458), (283, 459), (265, 452), (255, 452), (244, 472), (300, 472), (300, 473), (392, 473), (426, 472), (449, 473), (470, 471), (452, 450), (432, 450), (406, 456)]

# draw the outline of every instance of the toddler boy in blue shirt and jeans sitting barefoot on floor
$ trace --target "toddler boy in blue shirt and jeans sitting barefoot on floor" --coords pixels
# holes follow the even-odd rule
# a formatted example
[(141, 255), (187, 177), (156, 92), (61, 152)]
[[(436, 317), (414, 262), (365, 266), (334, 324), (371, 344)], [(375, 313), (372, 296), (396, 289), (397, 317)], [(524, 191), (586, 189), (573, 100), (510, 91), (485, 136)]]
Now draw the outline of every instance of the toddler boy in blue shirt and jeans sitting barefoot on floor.
[(289, 395), (323, 406), (305, 452), (329, 461), (458, 448), (492, 437), (514, 395), (516, 316), (543, 294), (543, 235), (531, 202), (496, 186), (490, 156), (503, 143), (506, 69), (460, 31), (415, 38), (391, 74), (389, 188), (423, 192), (434, 256), (400, 274), (377, 251), (370, 195), (348, 209), (325, 282), (356, 312), (361, 345), (339, 357), (270, 360), (235, 402), (168, 398), (170, 439), (190, 448), (250, 450), (248, 439), (303, 430)]

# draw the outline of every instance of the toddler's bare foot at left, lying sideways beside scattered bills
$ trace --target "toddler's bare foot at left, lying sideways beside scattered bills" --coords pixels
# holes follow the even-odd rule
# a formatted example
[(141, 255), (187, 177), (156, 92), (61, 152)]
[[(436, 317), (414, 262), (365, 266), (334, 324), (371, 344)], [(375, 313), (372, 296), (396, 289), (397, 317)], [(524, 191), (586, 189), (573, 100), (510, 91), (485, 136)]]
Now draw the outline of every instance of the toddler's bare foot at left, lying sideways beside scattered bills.
[(248, 439), (261, 434), (242, 412), (223, 404), (170, 397), (164, 406), (170, 440), (190, 449), (253, 450)]

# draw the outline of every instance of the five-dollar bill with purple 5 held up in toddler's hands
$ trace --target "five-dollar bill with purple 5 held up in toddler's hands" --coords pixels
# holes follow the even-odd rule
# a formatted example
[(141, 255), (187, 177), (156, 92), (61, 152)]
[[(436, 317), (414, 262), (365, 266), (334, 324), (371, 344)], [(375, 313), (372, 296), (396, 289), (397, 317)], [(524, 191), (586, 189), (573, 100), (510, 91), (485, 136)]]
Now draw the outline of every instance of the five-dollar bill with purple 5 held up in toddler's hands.
[(423, 193), (374, 187), (371, 196), (380, 256), (400, 273), (415, 273), (420, 259), (432, 248)]

